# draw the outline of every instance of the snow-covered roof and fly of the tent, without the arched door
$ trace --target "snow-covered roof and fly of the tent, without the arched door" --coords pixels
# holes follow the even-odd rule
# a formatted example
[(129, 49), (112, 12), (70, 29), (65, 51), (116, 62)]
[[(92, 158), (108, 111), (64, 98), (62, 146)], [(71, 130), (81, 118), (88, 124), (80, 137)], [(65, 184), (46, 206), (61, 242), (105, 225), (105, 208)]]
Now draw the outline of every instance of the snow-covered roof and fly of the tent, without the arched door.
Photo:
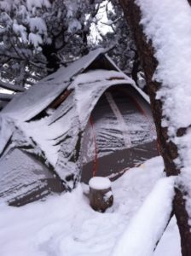
[[(103, 56), (104, 49), (96, 49), (14, 97), (0, 115), (2, 159), (11, 148), (20, 147), (43, 159), (68, 189), (73, 188), (80, 172), (83, 132), (103, 93), (120, 84), (133, 88), (142, 101), (148, 102), (148, 97), (113, 62), (113, 70), (85, 70)], [(52, 108), (50, 103), (66, 90), (69, 93), (65, 100)]]

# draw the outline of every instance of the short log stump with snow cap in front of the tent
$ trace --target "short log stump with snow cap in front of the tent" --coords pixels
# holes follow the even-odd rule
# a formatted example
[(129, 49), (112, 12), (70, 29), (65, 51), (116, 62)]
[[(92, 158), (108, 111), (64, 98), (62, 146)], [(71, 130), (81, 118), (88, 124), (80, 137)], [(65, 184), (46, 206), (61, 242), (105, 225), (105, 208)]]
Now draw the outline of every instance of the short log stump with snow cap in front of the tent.
[(113, 205), (111, 182), (107, 177), (92, 177), (90, 186), (90, 206), (97, 212), (105, 212)]

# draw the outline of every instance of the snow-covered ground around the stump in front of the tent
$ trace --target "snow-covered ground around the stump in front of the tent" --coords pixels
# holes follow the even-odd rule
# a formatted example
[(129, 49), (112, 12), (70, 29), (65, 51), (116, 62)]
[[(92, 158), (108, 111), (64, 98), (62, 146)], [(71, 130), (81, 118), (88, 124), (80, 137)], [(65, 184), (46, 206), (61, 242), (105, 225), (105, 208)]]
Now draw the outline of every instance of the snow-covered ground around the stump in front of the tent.
[[(115, 248), (119, 246), (125, 230), (129, 230), (136, 241), (138, 232), (133, 230), (135, 216), (136, 228), (140, 225), (142, 230), (143, 223), (137, 216), (144, 212), (148, 201), (152, 202), (152, 196), (154, 197), (157, 188), (159, 191), (163, 180), (166, 183), (166, 179), (160, 157), (148, 160), (138, 168), (130, 169), (112, 183), (114, 204), (105, 213), (95, 212), (90, 208), (89, 201), (83, 193), (87, 187), (83, 184), (79, 184), (72, 193), (52, 195), (46, 201), (33, 202), (25, 207), (16, 208), (1, 204), (0, 255), (117, 256)], [(168, 192), (166, 193), (168, 195)], [(146, 211), (146, 219), (152, 216), (152, 204), (150, 207), (150, 211)], [(152, 232), (154, 229), (153, 225)], [(139, 235), (136, 253), (133, 256), (142, 255), (138, 239)], [(145, 246), (147, 247), (146, 244)], [(153, 256), (167, 255), (181, 255), (175, 218), (172, 218), (153, 253)]]

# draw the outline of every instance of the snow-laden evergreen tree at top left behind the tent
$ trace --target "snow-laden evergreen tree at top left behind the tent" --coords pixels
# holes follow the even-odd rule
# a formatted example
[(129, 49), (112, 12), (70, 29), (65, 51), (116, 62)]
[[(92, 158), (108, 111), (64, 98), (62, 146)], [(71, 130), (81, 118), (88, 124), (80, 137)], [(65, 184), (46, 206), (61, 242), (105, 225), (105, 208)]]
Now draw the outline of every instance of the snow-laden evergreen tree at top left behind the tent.
[(10, 89), (33, 84), (87, 53), (99, 2), (1, 0), (0, 80), (10, 84), (0, 85)]

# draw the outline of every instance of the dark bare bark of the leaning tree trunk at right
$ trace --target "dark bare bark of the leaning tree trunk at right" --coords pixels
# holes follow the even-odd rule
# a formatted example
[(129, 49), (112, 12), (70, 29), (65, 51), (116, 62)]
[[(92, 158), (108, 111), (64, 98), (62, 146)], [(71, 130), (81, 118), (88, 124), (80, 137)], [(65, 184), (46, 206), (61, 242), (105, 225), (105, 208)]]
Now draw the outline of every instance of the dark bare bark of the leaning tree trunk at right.
[[(136, 5), (134, 0), (119, 0), (124, 15), (130, 25), (131, 32), (136, 41), (136, 48), (142, 62), (142, 67), (145, 72), (148, 94), (150, 96), (153, 119), (156, 125), (157, 136), (159, 140), (159, 148), (165, 163), (165, 172), (167, 176), (178, 175), (180, 170), (175, 165), (174, 161), (177, 158), (177, 145), (168, 142), (167, 129), (161, 126), (162, 119), (162, 102), (155, 99), (156, 92), (161, 84), (152, 80), (153, 73), (158, 65), (158, 61), (154, 58), (154, 49), (152, 42), (146, 40), (146, 36), (140, 25), (141, 10)], [(179, 129), (177, 136), (182, 136), (185, 129)], [(188, 212), (185, 208), (185, 201), (180, 189), (175, 189), (176, 195), (173, 202), (173, 211), (177, 218), (177, 224), (181, 235), (182, 255), (191, 256), (191, 233), (188, 225)]]

